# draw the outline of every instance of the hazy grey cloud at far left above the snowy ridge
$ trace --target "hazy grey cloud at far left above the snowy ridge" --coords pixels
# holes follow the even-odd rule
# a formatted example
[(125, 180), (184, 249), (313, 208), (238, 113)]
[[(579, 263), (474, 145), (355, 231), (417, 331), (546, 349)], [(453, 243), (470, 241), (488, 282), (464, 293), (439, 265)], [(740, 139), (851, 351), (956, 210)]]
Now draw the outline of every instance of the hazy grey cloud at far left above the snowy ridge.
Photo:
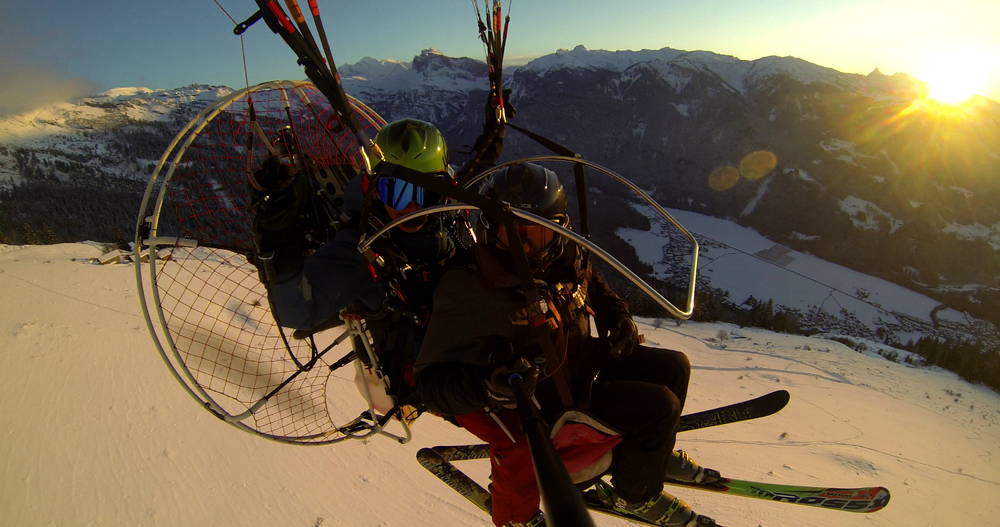
[(0, 69), (0, 117), (29, 112), (57, 102), (94, 93), (83, 79), (66, 79), (53, 70), (36, 66)]

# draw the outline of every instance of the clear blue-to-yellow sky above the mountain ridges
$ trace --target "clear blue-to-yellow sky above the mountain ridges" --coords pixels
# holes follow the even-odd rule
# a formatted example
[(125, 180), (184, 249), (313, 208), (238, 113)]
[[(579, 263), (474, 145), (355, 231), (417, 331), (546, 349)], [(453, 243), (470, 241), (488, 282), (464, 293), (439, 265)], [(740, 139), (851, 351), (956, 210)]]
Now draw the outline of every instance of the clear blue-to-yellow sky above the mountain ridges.
[[(252, 0), (219, 3), (237, 21), (256, 10)], [(339, 64), (364, 56), (409, 61), (429, 47), (452, 56), (483, 55), (468, 0), (319, 5)], [(792, 55), (844, 72), (867, 74), (877, 67), (924, 80), (934, 75), (924, 73), (931, 63), (988, 71), (980, 91), (1000, 99), (996, 0), (514, 0), (510, 7), (508, 62), (583, 44), (703, 49), (747, 60)], [(0, 98), (26, 90), (240, 87), (242, 54), (232, 26), (213, 0), (5, 0)], [(251, 84), (303, 78), (292, 53), (263, 23), (245, 34), (244, 43)], [(972, 65), (956, 57), (971, 57)]]

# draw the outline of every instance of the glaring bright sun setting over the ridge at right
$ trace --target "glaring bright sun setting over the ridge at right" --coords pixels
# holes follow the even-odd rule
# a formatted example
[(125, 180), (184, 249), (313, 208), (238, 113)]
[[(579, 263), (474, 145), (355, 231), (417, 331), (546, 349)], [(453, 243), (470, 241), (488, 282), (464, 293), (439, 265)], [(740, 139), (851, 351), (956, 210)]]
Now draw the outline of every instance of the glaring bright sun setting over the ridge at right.
[(956, 104), (983, 90), (988, 70), (986, 62), (953, 52), (928, 57), (921, 78), (930, 90), (928, 98)]

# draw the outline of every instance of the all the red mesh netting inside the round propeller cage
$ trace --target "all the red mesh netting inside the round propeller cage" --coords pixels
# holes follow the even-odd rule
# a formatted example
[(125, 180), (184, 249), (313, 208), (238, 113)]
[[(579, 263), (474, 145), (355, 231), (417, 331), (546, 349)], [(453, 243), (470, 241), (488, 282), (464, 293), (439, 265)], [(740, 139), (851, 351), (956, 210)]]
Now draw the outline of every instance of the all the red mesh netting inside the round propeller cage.
[[(351, 102), (374, 137), (384, 121)], [(256, 130), (251, 105), (260, 130), (248, 156), (248, 130)], [(300, 153), (319, 167), (360, 167), (363, 154), (311, 84), (261, 85), (215, 109), (203, 114), (208, 122), (200, 129), (193, 122), (186, 149), (182, 142), (170, 153), (168, 161), (180, 156), (163, 183), (163, 202), (153, 208), (159, 211), (153, 237), (179, 236), (198, 245), (172, 247), (169, 258), (154, 262), (153, 304), (168, 337), (160, 339), (162, 347), (180, 363), (175, 371), (181, 381), (225, 413), (239, 415), (266, 398), (242, 421), (253, 431), (292, 442), (337, 440), (326, 399), (330, 369), (322, 362), (302, 367), (314, 350), (308, 340), (282, 338), (257, 268), (247, 259), (253, 238), (246, 167), (249, 157), (251, 170), (259, 168), (269, 155), (264, 142), (288, 126)]]

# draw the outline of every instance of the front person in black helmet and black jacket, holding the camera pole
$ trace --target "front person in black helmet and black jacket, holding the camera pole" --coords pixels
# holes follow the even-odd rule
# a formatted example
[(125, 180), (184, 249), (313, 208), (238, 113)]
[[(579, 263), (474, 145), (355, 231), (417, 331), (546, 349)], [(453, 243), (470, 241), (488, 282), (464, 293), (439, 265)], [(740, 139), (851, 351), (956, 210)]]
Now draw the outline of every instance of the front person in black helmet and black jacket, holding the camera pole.
[[(563, 186), (541, 166), (501, 169), (487, 195), (570, 226)], [(690, 377), (687, 357), (639, 345), (628, 305), (577, 245), (546, 227), (519, 223), (532, 278), (548, 306), (544, 323), (538, 323), (525, 307), (514, 271), (511, 251), (521, 248), (511, 247), (514, 238), (506, 225), (481, 221), (479, 243), (456, 256), (434, 292), (434, 312), (414, 371), (424, 404), (455, 416), (490, 444), (494, 524), (544, 523), (528, 444), (511, 409), (507, 380), (519, 373), (534, 389), (547, 422), (582, 408), (598, 429), (620, 433), (595, 445), (604, 450), (614, 445), (613, 487), (598, 483), (602, 500), (656, 525), (714, 526), (711, 518), (663, 492), (668, 475), (700, 481), (705, 474), (673, 450)], [(590, 336), (591, 313), (601, 338)], [(589, 485), (603, 473), (580, 471), (575, 481), (585, 477), (583, 485)]]

